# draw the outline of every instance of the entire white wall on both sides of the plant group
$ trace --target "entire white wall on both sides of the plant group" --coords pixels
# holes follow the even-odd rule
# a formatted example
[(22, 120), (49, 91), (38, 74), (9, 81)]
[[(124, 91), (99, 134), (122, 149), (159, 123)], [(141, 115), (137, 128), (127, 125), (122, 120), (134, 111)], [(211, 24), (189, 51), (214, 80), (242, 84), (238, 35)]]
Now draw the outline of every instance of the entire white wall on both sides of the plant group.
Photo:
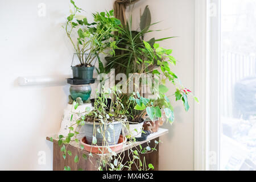
[[(38, 4), (46, 4), (46, 17), (38, 16)], [(110, 10), (114, 0), (76, 0), (88, 13)], [(143, 0), (149, 5), (156, 29), (155, 38), (179, 36), (161, 46), (174, 49), (178, 61), (174, 72), (193, 90), (193, 6), (192, 0)], [(138, 8), (135, 9), (138, 11)], [(62, 23), (69, 14), (68, 0), (0, 1), (0, 169), (51, 170), (52, 143), (46, 136), (59, 130), (67, 104), (68, 85), (19, 86), (19, 76), (71, 74), (73, 49)], [(170, 92), (171, 94), (172, 92)], [(193, 106), (185, 113), (174, 103), (175, 123), (161, 137), (160, 169), (193, 169)], [(46, 152), (46, 165), (38, 164), (38, 152)]]

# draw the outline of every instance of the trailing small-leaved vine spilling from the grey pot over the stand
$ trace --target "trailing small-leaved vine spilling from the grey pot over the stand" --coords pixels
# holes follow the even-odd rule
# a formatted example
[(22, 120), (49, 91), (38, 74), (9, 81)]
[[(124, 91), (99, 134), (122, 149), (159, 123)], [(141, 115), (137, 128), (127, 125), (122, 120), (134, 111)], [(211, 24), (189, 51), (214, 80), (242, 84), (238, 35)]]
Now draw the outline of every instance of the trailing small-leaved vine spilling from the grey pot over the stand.
[[(112, 101), (113, 105), (108, 108), (105, 104), (106, 99), (109, 98), (110, 94), (112, 94)], [(101, 151), (101, 158), (98, 170), (122, 170), (127, 169), (131, 170), (132, 166), (135, 166), (138, 170), (148, 170), (148, 169), (154, 169), (154, 166), (152, 164), (147, 164), (145, 158), (141, 159), (141, 154), (148, 154), (150, 152), (153, 152), (156, 150), (156, 146), (158, 146), (158, 141), (155, 140), (154, 146), (150, 147), (149, 144), (147, 147), (142, 147), (141, 145), (136, 146), (135, 138), (130, 138), (130, 140), (127, 142), (130, 147), (125, 150), (125, 146), (123, 145), (123, 150), (119, 151), (118, 153), (111, 150), (108, 142), (108, 138), (106, 138), (104, 127), (106, 123), (111, 123), (113, 121), (118, 121), (122, 123), (122, 129), (124, 130), (127, 127), (127, 120), (125, 117), (129, 115), (127, 112), (128, 107), (124, 107), (122, 105), (122, 102), (119, 98), (119, 94), (121, 94), (121, 90), (118, 90), (116, 87), (114, 89), (110, 90), (104, 90), (103, 92), (97, 93), (98, 97), (96, 101), (94, 102), (94, 108), (91, 110), (89, 107), (86, 107), (86, 110), (84, 113), (81, 113), (82, 116), (76, 120), (75, 123), (73, 123), (69, 127), (69, 133), (67, 136), (59, 135), (57, 137), (58, 144), (61, 147), (60, 150), (63, 152), (63, 158), (64, 160), (67, 158), (72, 157), (71, 150), (68, 150), (69, 145), (72, 144), (72, 142), (80, 143), (79, 139), (77, 139), (77, 135), (79, 134), (79, 131), (81, 127), (84, 127), (85, 122), (98, 122), (100, 123), (100, 129), (96, 130), (96, 132), (100, 133), (104, 139), (104, 147), (106, 150), (108, 150), (109, 155), (105, 155), (105, 151)], [(73, 107), (76, 110), (79, 104), (77, 102), (73, 102)], [(71, 116), (72, 121), (72, 116)], [(53, 138), (51, 138), (51, 141), (53, 141)], [(93, 140), (92, 142), (93, 146), (97, 146), (97, 140)], [(77, 148), (78, 150), (83, 150), (84, 146), (80, 144), (80, 146)], [(125, 155), (129, 155), (129, 160), (125, 161)], [(93, 154), (92, 152), (89, 152), (88, 155), (82, 154), (82, 152), (79, 152), (79, 155), (76, 155), (73, 160), (75, 163), (79, 163), (80, 160), (88, 160), (89, 158), (92, 158)], [(71, 170), (69, 166), (65, 166), (64, 170)], [(79, 169), (82, 170), (82, 169)]]

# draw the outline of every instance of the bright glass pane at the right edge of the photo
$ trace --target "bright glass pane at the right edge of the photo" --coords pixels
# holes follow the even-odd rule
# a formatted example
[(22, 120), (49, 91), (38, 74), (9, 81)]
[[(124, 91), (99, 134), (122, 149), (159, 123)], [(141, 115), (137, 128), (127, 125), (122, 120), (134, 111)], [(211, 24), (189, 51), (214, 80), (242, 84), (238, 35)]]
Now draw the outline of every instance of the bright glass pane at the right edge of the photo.
[(256, 0), (221, 1), (221, 170), (256, 170)]

